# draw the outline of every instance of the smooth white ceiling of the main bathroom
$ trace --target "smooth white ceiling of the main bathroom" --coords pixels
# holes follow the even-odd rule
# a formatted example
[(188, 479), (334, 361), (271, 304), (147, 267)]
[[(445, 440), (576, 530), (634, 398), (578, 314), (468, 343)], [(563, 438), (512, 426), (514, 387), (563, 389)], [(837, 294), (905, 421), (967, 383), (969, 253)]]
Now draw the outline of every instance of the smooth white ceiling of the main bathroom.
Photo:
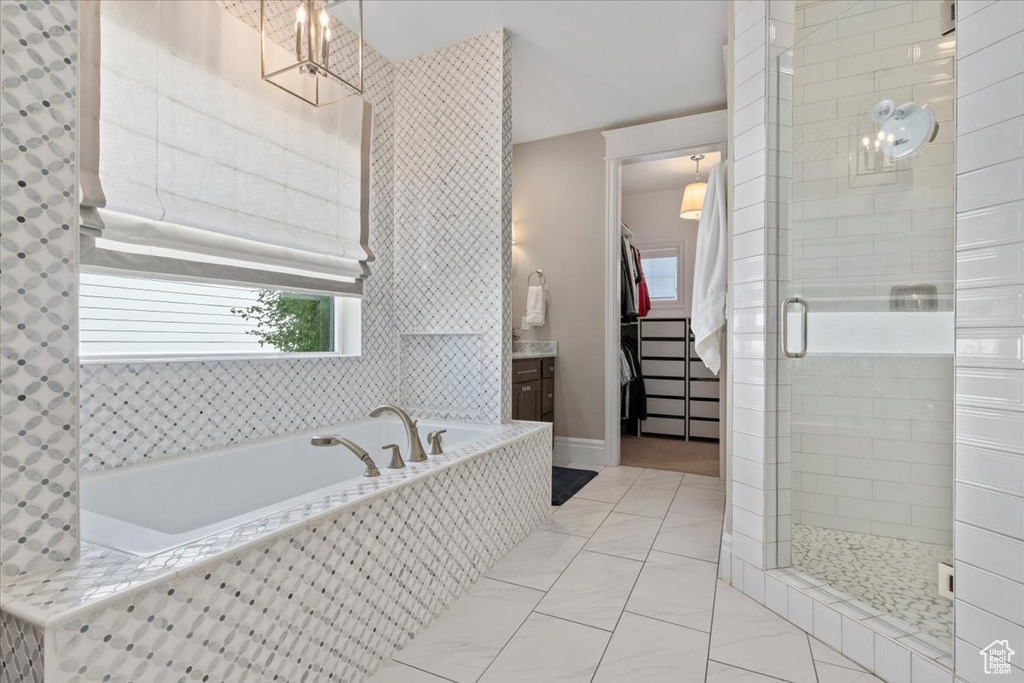
[(724, 105), (726, 2), (365, 0), (367, 42), (392, 61), (504, 27), (513, 141)]

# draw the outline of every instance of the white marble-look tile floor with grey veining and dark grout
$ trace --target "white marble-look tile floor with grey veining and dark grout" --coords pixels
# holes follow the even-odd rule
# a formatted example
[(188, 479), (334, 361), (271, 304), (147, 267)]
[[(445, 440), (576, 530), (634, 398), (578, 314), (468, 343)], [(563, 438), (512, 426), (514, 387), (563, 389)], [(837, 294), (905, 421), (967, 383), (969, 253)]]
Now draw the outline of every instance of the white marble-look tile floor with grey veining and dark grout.
[(877, 683), (718, 581), (724, 508), (717, 478), (600, 469), (371, 682)]

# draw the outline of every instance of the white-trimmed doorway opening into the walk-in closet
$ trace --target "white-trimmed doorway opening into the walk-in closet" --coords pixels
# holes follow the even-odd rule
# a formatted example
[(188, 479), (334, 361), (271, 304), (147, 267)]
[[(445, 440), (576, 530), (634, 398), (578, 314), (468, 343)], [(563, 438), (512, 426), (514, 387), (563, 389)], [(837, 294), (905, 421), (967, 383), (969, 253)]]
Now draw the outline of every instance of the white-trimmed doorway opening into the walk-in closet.
[(725, 136), (724, 112), (605, 133), (608, 465), (725, 475), (725, 364), (716, 375), (694, 348), (698, 221), (681, 215), (698, 164), (706, 182), (723, 163)]

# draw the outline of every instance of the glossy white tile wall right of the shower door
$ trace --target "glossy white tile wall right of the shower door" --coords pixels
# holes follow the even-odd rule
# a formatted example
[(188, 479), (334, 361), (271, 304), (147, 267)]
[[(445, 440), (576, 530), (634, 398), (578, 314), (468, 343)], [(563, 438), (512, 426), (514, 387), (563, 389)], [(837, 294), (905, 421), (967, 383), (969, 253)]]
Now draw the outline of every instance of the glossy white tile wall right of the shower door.
[(982, 681), (980, 648), (1024, 646), (1024, 3), (961, 4), (955, 659), (958, 678)]

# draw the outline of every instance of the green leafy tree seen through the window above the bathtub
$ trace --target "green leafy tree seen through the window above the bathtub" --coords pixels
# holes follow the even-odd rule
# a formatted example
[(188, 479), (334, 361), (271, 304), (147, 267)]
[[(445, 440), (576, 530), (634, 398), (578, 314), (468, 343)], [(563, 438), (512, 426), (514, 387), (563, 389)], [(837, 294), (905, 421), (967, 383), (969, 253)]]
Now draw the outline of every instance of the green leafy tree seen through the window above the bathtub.
[(231, 312), (254, 323), (260, 346), (286, 353), (334, 350), (334, 300), (328, 296), (259, 290), (256, 303)]

